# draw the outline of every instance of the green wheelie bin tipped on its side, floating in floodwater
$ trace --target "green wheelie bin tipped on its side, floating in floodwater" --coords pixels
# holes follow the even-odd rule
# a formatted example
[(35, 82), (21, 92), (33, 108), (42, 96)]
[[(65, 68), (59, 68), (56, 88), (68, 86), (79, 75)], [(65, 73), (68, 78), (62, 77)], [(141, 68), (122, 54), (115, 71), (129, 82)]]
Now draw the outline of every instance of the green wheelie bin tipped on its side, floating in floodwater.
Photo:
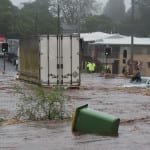
[(119, 118), (90, 109), (86, 104), (75, 110), (72, 117), (72, 131), (117, 136), (119, 123)]

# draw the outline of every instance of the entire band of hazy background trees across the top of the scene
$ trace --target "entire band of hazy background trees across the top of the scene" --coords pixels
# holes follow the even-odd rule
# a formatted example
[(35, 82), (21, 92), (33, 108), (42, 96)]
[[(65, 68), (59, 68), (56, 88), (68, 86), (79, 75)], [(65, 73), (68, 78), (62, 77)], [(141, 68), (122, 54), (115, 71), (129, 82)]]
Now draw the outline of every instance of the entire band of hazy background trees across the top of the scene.
[[(60, 20), (68, 25), (78, 25), (81, 32), (118, 32), (136, 36), (150, 35), (150, 1), (134, 0), (134, 25), (131, 8), (126, 12), (124, 0), (109, 0), (104, 16), (96, 16), (101, 4), (96, 0), (61, 0)], [(56, 0), (35, 0), (23, 4), (22, 8), (12, 5), (10, 0), (0, 0), (0, 35), (17, 38), (37, 34), (57, 34)], [(107, 17), (106, 17), (107, 16)], [(109, 18), (108, 18), (109, 17)]]

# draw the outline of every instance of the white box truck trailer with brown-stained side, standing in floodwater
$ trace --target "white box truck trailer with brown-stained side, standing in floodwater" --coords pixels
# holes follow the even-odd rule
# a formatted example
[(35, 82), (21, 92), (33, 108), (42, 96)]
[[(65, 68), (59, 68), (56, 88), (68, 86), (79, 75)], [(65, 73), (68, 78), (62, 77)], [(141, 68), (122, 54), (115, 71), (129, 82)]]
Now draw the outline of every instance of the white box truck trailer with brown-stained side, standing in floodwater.
[(19, 78), (43, 86), (79, 86), (79, 35), (21, 39)]

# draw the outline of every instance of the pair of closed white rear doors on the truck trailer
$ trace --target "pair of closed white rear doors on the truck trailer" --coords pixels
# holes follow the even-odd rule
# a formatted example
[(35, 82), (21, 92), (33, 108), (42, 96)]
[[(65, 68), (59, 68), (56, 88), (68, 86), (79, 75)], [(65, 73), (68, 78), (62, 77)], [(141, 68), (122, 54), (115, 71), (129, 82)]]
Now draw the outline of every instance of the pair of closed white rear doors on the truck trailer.
[(47, 85), (79, 85), (79, 37), (41, 38), (41, 80)]

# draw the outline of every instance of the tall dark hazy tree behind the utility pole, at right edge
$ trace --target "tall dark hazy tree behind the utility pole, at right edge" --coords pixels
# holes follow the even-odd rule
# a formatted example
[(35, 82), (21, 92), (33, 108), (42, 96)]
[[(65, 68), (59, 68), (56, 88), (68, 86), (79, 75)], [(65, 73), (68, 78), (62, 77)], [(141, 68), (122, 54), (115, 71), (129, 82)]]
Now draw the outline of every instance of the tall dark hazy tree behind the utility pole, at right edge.
[[(150, 1), (134, 0), (134, 25), (132, 25), (132, 8), (126, 13), (126, 19), (120, 26), (120, 33), (131, 34), (134, 32), (135, 36), (149, 36), (150, 35)], [(123, 31), (123, 32), (122, 32)]]

